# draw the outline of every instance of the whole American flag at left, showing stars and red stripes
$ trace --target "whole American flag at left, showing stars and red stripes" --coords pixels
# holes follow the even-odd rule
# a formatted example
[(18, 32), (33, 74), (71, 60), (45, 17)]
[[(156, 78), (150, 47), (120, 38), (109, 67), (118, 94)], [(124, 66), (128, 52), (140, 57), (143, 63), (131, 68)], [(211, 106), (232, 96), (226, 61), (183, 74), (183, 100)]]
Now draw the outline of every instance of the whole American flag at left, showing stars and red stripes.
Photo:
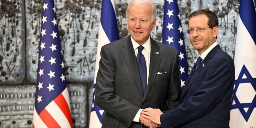
[(73, 128), (54, 0), (42, 10), (33, 128)]

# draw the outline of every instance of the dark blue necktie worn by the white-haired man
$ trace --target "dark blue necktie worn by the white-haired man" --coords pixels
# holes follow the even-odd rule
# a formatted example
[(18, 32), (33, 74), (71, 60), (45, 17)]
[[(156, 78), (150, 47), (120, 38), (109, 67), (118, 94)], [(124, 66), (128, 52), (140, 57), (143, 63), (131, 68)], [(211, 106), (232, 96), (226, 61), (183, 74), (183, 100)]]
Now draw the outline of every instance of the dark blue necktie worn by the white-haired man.
[(141, 53), (143, 48), (144, 47), (141, 45), (138, 47), (139, 51), (138, 51), (136, 60), (137, 60), (138, 66), (139, 66), (143, 95), (145, 95), (146, 90), (147, 90), (147, 66), (146, 66), (145, 57)]

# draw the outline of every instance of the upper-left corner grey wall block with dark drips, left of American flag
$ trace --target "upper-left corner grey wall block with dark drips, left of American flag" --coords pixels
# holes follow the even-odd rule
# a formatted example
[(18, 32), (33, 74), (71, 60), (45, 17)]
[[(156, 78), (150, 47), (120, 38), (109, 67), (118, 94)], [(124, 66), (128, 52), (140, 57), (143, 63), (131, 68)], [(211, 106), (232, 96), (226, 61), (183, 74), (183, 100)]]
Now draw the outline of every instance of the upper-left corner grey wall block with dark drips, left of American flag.
[(0, 83), (20, 84), (25, 77), (25, 22), (21, 0), (0, 3)]

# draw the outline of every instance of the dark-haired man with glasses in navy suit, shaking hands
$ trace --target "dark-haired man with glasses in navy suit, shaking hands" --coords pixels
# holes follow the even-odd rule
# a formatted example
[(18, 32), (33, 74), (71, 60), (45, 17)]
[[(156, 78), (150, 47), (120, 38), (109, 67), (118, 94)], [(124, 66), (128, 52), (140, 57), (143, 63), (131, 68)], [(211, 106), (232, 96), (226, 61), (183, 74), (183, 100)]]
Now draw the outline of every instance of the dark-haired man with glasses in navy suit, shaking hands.
[(232, 58), (216, 42), (218, 18), (209, 10), (198, 10), (188, 19), (189, 40), (200, 57), (180, 103), (163, 113), (152, 108), (141, 113), (164, 128), (228, 128), (235, 72)]

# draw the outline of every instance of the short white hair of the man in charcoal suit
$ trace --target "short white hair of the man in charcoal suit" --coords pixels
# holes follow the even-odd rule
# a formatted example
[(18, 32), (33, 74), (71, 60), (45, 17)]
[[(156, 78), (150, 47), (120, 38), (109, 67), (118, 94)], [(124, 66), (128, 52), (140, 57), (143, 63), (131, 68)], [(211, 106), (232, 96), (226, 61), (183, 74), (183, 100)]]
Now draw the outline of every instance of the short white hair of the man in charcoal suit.
[(129, 16), (129, 8), (130, 8), (130, 5), (131, 4), (135, 4), (135, 5), (143, 5), (143, 4), (150, 4), (151, 5), (151, 11), (152, 11), (152, 20), (154, 20), (156, 18), (156, 15), (157, 15), (157, 11), (156, 11), (156, 6), (154, 3), (152, 3), (151, 1), (149, 0), (132, 0), (128, 6), (127, 6), (127, 10), (126, 10), (126, 19), (128, 19), (128, 16)]

